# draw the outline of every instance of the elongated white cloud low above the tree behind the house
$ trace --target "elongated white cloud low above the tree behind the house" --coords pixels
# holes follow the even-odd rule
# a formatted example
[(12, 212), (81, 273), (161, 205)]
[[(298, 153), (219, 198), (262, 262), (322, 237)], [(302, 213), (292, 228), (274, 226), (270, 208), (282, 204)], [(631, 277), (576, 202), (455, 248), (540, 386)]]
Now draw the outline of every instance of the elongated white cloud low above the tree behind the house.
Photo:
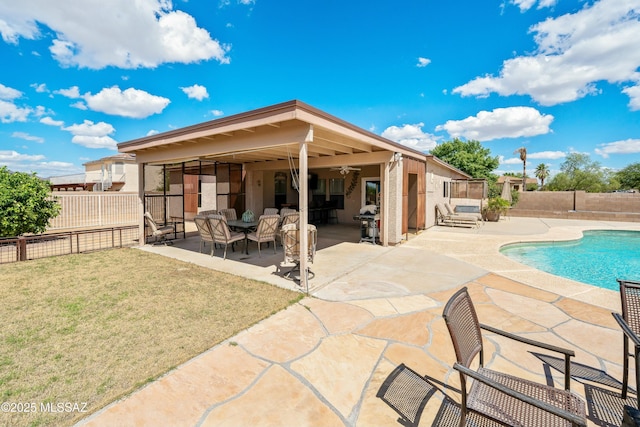
[(490, 141), (543, 135), (551, 132), (549, 125), (552, 121), (552, 115), (540, 114), (531, 107), (496, 108), (480, 111), (464, 120), (448, 120), (444, 125), (438, 125), (436, 131), (446, 130), (454, 138)]

